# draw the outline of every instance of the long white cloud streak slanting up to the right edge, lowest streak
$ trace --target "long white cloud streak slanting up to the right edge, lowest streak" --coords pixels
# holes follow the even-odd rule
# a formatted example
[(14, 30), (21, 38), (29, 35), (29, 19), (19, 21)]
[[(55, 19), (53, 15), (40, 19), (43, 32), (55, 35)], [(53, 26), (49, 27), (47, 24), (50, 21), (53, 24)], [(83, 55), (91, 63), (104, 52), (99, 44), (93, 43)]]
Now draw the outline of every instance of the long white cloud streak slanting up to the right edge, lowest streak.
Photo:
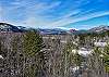
[(71, 24), (71, 23), (73, 24), (76, 22), (82, 22), (82, 21), (86, 21), (86, 20), (90, 20), (94, 17), (104, 16), (104, 15), (109, 15), (109, 12), (96, 12), (96, 13), (92, 13), (88, 15), (83, 15), (82, 17), (77, 17), (77, 18), (71, 18), (71, 17), (62, 18), (62, 20), (59, 20), (59, 21), (51, 23), (50, 26), (65, 26), (65, 25)]

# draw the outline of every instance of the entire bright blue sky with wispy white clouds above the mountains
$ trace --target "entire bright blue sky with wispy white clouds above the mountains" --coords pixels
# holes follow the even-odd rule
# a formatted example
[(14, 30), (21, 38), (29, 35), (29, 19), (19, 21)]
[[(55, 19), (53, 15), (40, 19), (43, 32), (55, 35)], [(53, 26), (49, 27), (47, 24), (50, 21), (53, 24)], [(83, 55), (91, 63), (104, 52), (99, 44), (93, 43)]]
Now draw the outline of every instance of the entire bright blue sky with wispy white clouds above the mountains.
[(0, 22), (35, 28), (109, 25), (109, 0), (0, 0)]

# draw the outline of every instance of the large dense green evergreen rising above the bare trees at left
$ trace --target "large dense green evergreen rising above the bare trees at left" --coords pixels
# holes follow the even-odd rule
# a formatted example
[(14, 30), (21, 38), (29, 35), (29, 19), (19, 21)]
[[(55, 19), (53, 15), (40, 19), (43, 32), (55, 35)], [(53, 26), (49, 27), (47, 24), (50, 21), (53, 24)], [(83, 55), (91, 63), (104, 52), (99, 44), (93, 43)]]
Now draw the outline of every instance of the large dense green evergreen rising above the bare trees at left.
[(43, 48), (43, 38), (36, 30), (29, 30), (24, 35), (24, 53), (28, 56), (35, 55)]

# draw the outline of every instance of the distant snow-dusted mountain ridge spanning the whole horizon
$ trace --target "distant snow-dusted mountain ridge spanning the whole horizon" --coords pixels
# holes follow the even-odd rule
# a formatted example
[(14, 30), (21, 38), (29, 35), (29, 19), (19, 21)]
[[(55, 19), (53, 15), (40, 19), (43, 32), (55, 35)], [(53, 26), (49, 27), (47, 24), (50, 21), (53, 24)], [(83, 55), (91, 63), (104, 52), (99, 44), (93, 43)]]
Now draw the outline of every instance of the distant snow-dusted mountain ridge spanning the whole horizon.
[(64, 29), (60, 29), (60, 28), (53, 28), (53, 29), (43, 29), (43, 28), (26, 28), (23, 26), (14, 26), (14, 25), (10, 25), (7, 23), (0, 23), (0, 31), (13, 31), (13, 33), (23, 33), (23, 31), (27, 31), (31, 29), (35, 29), (38, 30), (41, 35), (65, 35), (65, 34), (88, 34), (88, 33), (102, 33), (102, 31), (107, 31), (109, 30), (109, 26), (99, 26), (99, 27), (94, 27), (87, 30), (75, 30), (75, 29), (69, 29), (69, 30), (64, 30)]

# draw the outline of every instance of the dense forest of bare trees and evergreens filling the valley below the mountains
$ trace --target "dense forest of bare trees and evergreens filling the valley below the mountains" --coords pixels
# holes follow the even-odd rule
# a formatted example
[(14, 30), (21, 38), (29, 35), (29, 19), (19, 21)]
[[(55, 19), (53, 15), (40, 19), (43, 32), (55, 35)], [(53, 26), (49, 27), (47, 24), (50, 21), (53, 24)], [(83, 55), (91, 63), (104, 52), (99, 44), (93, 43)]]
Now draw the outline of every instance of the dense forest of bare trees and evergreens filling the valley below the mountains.
[(0, 77), (109, 77), (109, 33), (0, 33)]

